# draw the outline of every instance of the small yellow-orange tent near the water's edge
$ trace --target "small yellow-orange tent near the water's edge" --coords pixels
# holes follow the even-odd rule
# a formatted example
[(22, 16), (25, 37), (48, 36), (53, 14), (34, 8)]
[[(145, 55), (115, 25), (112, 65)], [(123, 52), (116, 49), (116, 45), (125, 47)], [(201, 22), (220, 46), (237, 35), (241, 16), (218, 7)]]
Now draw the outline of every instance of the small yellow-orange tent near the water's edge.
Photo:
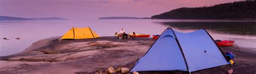
[(91, 39), (91, 38), (100, 38), (98, 34), (93, 32), (90, 27), (86, 28), (74, 28), (72, 27), (66, 34), (60, 38), (63, 39)]

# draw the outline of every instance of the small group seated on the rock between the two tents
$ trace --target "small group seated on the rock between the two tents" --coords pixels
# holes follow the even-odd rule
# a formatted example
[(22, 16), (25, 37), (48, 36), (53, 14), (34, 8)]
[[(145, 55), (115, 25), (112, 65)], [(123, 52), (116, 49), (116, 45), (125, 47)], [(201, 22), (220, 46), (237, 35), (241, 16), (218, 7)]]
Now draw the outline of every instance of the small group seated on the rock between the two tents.
[(126, 34), (124, 31), (124, 28), (121, 29), (120, 34), (117, 32), (114, 33), (114, 36), (116, 36), (117, 39), (135, 39), (136, 34), (135, 32), (132, 32), (132, 34)]

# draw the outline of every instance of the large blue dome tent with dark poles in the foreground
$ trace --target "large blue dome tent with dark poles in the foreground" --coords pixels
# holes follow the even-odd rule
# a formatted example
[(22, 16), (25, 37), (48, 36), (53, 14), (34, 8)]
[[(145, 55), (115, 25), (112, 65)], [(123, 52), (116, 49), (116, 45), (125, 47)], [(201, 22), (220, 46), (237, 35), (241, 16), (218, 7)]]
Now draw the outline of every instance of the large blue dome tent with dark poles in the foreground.
[(134, 65), (133, 71), (193, 72), (230, 64), (220, 47), (205, 29), (181, 33), (166, 28), (146, 54)]

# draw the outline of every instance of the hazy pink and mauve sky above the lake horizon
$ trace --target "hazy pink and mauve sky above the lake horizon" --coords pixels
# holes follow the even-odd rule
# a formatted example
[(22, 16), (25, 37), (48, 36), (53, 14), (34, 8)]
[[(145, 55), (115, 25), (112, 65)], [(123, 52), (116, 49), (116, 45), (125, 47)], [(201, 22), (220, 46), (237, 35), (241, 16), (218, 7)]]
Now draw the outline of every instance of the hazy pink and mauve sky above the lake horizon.
[(239, 0), (0, 0), (0, 15), (12, 17), (151, 17), (182, 7), (210, 6)]

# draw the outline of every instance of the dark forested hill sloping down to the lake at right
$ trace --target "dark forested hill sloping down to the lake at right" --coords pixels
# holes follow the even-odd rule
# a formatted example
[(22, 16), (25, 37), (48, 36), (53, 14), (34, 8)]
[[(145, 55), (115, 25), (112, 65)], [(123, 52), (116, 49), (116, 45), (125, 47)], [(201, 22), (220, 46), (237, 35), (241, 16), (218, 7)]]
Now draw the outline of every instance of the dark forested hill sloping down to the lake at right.
[(152, 16), (151, 19), (256, 19), (256, 1), (179, 8)]

